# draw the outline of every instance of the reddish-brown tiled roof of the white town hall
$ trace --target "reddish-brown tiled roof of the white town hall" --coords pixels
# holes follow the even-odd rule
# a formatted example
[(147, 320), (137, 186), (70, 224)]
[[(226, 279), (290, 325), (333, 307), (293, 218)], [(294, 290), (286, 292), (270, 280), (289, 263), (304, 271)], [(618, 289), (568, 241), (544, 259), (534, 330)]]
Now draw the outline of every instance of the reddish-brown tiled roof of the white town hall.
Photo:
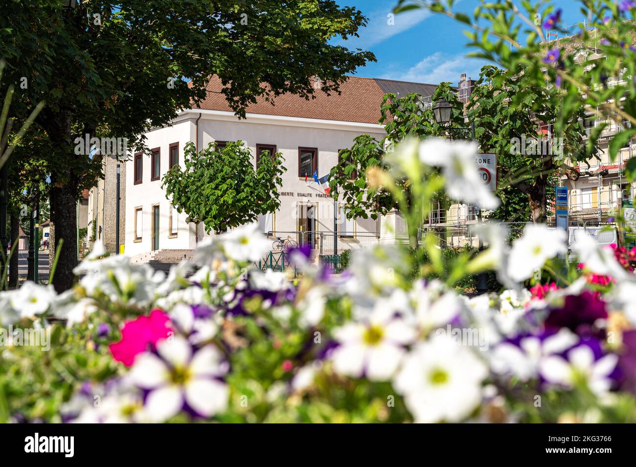
[[(399, 88), (402, 91), (402, 96), (408, 92), (432, 95), (436, 88), (436, 85), (349, 76), (347, 81), (340, 85), (340, 94), (327, 95), (324, 92), (317, 91), (314, 94), (315, 99), (309, 99), (308, 101), (295, 94), (282, 94), (273, 98), (273, 105), (272, 102), (266, 102), (265, 98), (259, 98), (256, 104), (252, 104), (246, 109), (246, 112), (261, 115), (338, 120), (340, 122), (378, 123), (382, 98), (387, 85), (391, 83), (394, 84), (394, 88)], [(218, 76), (212, 76), (207, 85), (207, 98), (197, 108), (232, 111), (225, 100), (225, 95), (221, 94), (222, 87), (221, 79)]]

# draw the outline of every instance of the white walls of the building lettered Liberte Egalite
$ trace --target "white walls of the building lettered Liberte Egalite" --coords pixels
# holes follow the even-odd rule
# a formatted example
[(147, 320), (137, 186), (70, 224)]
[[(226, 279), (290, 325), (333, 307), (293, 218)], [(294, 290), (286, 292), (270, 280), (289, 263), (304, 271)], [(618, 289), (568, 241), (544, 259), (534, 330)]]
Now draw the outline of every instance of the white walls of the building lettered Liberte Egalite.
[[(168, 169), (168, 148), (179, 141), (179, 162), (183, 167), (183, 148), (188, 141), (195, 142), (195, 120), (198, 113), (177, 119), (172, 127), (156, 129), (146, 134), (149, 148), (161, 148), (161, 176)], [(190, 118), (186, 118), (190, 117)], [(316, 183), (305, 183), (298, 177), (298, 148), (318, 149), (318, 176), (327, 175), (331, 167), (338, 162), (338, 150), (348, 148), (355, 137), (369, 133), (377, 139), (384, 137), (380, 125), (365, 125), (349, 122), (317, 121), (300, 118), (256, 116), (248, 114), (247, 120), (238, 120), (228, 112), (208, 111), (199, 120), (199, 148), (205, 148), (212, 141), (245, 141), (252, 155), (256, 153), (256, 144), (275, 144), (282, 153), (287, 172), (283, 174), (280, 193), (293, 193), (280, 196), (280, 209), (273, 215), (273, 228), (277, 231), (297, 230), (297, 206), (301, 202), (317, 204), (317, 229), (321, 232), (333, 232), (333, 199), (324, 196), (324, 191)], [(255, 159), (254, 159), (255, 160)], [(126, 171), (126, 247), (128, 255), (151, 251), (151, 206), (160, 204), (160, 249), (189, 249), (195, 246), (193, 225), (186, 225), (186, 214), (179, 215), (177, 237), (169, 239), (169, 200), (161, 189), (161, 180), (150, 181), (150, 158), (144, 156), (143, 183), (134, 185), (134, 158), (127, 162)], [(143, 207), (142, 240), (134, 242), (134, 208)], [(377, 222), (360, 219), (354, 227), (362, 237), (378, 232)], [(279, 236), (286, 237), (287, 233)], [(366, 238), (364, 240), (367, 240)], [(342, 248), (347, 241), (338, 240)]]

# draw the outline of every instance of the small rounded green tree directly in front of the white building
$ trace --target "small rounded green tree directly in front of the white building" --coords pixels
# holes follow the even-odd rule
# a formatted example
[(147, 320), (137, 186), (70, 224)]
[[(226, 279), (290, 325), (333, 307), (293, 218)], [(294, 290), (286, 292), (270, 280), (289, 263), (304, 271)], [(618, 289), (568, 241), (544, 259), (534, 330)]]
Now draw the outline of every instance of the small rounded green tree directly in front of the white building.
[(162, 186), (179, 213), (203, 222), (206, 232), (223, 232), (255, 221), (259, 214), (280, 207), (282, 155), (263, 155), (254, 169), (252, 155), (242, 141), (216, 144), (197, 154), (193, 143), (184, 148), (184, 169), (174, 165), (163, 176)]

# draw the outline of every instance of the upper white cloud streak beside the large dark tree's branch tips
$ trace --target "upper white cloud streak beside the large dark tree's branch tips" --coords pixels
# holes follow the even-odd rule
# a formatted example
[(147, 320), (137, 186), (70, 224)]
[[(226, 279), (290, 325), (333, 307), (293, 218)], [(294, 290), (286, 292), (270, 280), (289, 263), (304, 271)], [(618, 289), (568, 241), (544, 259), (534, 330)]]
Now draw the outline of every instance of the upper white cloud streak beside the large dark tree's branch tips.
[(411, 27), (420, 24), (420, 22), (431, 16), (431, 12), (424, 9), (394, 15), (391, 8), (383, 8), (382, 10), (364, 14), (369, 18), (369, 22), (366, 27), (359, 29), (358, 34), (360, 34), (360, 37), (354, 37), (347, 41), (338, 39), (335, 44), (343, 45), (349, 49), (369, 49), (400, 32), (411, 29)]

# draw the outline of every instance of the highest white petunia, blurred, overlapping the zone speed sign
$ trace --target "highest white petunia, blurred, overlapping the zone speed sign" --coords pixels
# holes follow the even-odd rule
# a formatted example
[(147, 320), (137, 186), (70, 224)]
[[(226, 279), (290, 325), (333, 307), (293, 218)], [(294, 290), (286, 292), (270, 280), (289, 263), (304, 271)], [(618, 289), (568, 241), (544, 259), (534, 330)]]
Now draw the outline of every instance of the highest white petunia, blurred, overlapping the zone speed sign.
[(485, 209), (495, 209), (501, 201), (481, 178), (475, 164), (476, 155), (477, 143), (473, 141), (428, 138), (420, 144), (420, 160), (441, 167), (448, 196)]

